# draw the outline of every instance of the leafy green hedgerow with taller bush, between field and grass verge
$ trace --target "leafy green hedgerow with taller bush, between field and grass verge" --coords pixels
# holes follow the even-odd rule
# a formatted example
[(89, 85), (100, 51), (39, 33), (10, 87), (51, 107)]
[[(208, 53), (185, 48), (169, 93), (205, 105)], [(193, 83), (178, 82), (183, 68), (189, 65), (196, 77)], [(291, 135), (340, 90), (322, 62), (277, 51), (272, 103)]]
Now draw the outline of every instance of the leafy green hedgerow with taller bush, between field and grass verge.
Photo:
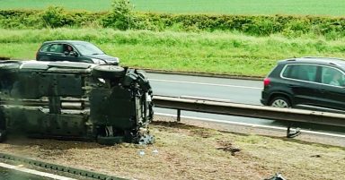
[(43, 11), (1, 10), (0, 28), (103, 27), (116, 30), (158, 31), (235, 30), (254, 36), (282, 33), (288, 37), (296, 37), (314, 33), (332, 39), (345, 35), (345, 18), (342, 17), (134, 13), (130, 5), (126, 4), (128, 1), (118, 1), (112, 4), (111, 12), (104, 13), (66, 11), (58, 6), (51, 6)]

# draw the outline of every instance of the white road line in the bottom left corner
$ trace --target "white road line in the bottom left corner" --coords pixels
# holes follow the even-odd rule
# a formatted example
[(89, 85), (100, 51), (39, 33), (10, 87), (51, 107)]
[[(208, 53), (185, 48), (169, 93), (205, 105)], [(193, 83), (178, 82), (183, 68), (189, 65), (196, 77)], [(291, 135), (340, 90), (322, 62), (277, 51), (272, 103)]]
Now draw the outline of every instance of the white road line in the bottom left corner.
[(25, 168), (25, 167), (18, 167), (18, 166), (4, 164), (2, 162), (0, 162), (0, 167), (21, 171), (23, 173), (29, 173), (31, 175), (49, 177), (49, 178), (57, 179), (57, 180), (76, 180), (76, 179), (70, 178), (70, 177), (53, 175), (53, 174), (49, 174), (49, 173), (45, 173), (45, 172), (40, 172), (40, 171), (29, 169), (29, 168)]

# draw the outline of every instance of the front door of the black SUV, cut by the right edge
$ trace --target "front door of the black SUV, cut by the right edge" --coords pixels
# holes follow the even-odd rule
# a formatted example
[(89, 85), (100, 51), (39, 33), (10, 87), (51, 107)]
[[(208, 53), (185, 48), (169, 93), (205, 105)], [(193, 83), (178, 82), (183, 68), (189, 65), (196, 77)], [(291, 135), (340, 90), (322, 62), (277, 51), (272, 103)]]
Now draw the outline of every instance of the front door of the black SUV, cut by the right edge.
[[(345, 110), (345, 73), (331, 66), (321, 67), (321, 84), (316, 91), (319, 107)], [(334, 82), (338, 81), (338, 82)]]

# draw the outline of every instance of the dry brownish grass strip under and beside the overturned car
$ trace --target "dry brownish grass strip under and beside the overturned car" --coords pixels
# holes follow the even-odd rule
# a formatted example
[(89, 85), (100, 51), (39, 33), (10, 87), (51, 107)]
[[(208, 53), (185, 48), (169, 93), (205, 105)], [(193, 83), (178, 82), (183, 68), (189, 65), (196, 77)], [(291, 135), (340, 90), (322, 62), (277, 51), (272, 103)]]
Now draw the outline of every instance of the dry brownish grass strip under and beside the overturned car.
[(155, 144), (9, 139), (0, 151), (129, 179), (345, 179), (345, 148), (175, 122), (150, 125)]

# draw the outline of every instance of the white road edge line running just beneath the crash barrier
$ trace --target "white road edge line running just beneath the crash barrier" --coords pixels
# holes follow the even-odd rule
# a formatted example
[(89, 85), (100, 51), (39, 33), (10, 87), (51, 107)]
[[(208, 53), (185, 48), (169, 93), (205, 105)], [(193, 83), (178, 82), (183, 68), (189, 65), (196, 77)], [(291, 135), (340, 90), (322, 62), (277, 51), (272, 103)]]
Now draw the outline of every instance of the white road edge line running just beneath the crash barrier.
[[(176, 115), (165, 114), (165, 113), (155, 113), (155, 115), (176, 117)], [(203, 118), (203, 117), (196, 117), (196, 116), (181, 116), (181, 117), (182, 118), (189, 118), (189, 119), (196, 119), (196, 120), (200, 120), (200, 121), (214, 122), (214, 123), (236, 124), (236, 125), (243, 125), (243, 126), (261, 127), (261, 128), (267, 128), (267, 129), (276, 129), (276, 130), (287, 131), (287, 127), (278, 127), (278, 126), (271, 126), (271, 125), (231, 122), (231, 121), (218, 120), (218, 119), (210, 119), (210, 118)], [(308, 131), (308, 130), (300, 130), (300, 131), (302, 133), (311, 133), (311, 134), (318, 134), (318, 135), (326, 135), (326, 136), (332, 136), (332, 137), (345, 138), (345, 135), (336, 134), (336, 133), (321, 133), (321, 132), (313, 132), (313, 131)]]

